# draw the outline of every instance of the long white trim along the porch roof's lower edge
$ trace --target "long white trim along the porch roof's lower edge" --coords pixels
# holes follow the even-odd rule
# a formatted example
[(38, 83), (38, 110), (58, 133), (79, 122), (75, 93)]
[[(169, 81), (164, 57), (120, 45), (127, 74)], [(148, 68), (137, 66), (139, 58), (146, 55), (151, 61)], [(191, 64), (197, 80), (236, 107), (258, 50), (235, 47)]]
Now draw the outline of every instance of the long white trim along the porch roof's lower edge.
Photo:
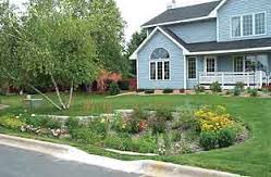
[(202, 52), (189, 52), (189, 55), (198, 54), (222, 54), (222, 53), (237, 53), (237, 52), (252, 52), (252, 51), (266, 51), (271, 50), (271, 47), (262, 48), (248, 48), (248, 49), (233, 49), (233, 50), (217, 50), (217, 51), (202, 51)]

